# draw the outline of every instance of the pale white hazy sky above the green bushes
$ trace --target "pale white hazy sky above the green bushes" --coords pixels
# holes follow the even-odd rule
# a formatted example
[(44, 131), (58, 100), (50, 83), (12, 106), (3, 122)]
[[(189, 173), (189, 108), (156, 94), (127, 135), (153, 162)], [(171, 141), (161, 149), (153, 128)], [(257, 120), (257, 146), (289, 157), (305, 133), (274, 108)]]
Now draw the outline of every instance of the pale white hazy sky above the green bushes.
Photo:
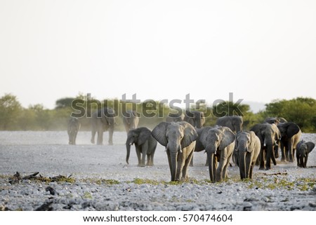
[(0, 1), (0, 97), (316, 98), (316, 1)]

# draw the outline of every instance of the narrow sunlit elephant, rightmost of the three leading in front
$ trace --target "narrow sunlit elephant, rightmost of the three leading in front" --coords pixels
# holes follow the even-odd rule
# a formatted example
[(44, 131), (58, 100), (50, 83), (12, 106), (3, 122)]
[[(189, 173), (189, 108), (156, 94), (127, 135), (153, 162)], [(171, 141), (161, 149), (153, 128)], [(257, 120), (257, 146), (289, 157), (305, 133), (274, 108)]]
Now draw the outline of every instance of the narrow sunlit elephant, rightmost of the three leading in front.
[(254, 131), (242, 131), (236, 135), (237, 165), (240, 178), (252, 179), (252, 171), (261, 149), (260, 139)]

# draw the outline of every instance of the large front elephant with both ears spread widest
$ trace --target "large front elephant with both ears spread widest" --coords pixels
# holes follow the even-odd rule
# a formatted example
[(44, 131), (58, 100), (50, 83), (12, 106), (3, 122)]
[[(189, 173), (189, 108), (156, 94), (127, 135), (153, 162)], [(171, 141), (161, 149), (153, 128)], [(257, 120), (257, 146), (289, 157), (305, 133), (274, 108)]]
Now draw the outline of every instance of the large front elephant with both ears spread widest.
[(166, 146), (171, 181), (180, 181), (180, 176), (186, 180), (197, 139), (195, 128), (185, 121), (161, 122), (152, 130), (152, 136)]

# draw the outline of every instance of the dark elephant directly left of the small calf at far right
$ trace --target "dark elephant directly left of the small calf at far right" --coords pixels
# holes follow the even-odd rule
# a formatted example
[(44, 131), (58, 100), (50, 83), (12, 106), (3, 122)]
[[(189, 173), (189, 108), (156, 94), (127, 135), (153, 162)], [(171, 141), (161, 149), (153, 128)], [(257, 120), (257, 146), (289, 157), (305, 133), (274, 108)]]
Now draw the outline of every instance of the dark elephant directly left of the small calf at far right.
[(281, 133), (281, 161), (294, 161), (295, 149), (301, 139), (301, 129), (296, 123), (279, 123), (277, 125)]

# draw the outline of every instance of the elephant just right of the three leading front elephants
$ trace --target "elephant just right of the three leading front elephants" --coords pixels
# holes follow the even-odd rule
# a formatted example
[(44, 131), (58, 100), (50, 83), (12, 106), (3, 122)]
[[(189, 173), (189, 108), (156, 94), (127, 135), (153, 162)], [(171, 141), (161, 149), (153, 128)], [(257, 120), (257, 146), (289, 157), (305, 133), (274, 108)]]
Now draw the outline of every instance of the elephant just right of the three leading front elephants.
[(279, 129), (274, 123), (259, 123), (254, 125), (251, 131), (255, 132), (261, 143), (259, 170), (270, 170), (271, 160), (274, 165), (277, 165), (275, 149), (279, 146), (279, 139), (281, 138)]

